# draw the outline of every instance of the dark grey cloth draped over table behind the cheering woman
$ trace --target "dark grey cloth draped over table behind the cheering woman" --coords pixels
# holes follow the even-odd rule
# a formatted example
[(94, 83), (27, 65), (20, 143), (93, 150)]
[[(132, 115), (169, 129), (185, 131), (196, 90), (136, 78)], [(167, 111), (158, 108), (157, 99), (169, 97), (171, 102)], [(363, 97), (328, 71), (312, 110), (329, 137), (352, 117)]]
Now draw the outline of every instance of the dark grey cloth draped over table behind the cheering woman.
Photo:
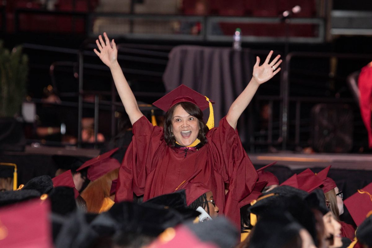
[[(250, 81), (252, 66), (249, 49), (176, 46), (169, 54), (163, 81), (167, 92), (184, 84), (212, 99), (217, 126)], [(208, 119), (209, 110), (206, 111)], [(237, 125), (242, 142), (246, 138), (246, 126), (247, 115), (243, 113)]]

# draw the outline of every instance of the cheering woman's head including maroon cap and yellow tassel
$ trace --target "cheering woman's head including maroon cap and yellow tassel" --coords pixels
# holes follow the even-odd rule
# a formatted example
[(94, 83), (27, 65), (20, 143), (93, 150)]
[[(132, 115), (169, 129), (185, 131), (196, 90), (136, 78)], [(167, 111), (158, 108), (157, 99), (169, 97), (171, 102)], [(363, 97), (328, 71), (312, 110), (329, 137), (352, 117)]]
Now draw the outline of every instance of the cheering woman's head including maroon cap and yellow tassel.
[[(213, 101), (183, 84), (153, 103), (166, 112), (164, 139), (174, 147), (192, 145), (196, 139), (205, 144), (205, 135), (214, 127)], [(203, 110), (209, 107), (207, 124), (203, 121)]]

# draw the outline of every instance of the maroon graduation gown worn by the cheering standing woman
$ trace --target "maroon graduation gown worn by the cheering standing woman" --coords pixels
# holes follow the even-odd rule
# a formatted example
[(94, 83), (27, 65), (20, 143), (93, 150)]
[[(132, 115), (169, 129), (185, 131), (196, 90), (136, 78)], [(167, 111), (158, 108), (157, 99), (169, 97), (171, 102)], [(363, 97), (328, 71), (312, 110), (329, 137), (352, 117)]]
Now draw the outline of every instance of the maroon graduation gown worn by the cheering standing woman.
[[(163, 128), (153, 126), (145, 116), (133, 124), (133, 134), (119, 170), (115, 202), (132, 201), (133, 193), (143, 194), (144, 201), (171, 193), (200, 171), (193, 182), (209, 187), (220, 213), (240, 228), (239, 202), (252, 191), (257, 172), (226, 117), (209, 130), (207, 143), (187, 151), (186, 157), (184, 150), (168, 146)], [(226, 195), (224, 183), (229, 183)]]

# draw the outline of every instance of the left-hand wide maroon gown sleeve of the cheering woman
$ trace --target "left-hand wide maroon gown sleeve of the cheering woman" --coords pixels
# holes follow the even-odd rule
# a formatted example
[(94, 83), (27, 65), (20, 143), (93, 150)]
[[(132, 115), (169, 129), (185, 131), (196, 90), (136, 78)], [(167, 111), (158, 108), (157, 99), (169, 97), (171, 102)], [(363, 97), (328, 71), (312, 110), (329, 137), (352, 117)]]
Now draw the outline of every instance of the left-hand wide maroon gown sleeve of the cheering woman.
[(153, 126), (145, 116), (133, 123), (133, 137), (121, 167), (116, 186), (115, 202), (132, 201), (133, 193), (144, 194), (145, 181), (155, 151), (161, 144), (163, 128)]

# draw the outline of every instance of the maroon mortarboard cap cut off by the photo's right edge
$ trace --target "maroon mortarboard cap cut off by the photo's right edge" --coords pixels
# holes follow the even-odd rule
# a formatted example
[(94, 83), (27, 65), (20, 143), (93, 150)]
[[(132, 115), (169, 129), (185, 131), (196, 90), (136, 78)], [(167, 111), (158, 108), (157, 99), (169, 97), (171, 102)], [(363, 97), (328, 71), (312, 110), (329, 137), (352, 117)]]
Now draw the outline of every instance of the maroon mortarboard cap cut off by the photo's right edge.
[(344, 200), (355, 224), (359, 226), (368, 214), (372, 213), (372, 183)]

